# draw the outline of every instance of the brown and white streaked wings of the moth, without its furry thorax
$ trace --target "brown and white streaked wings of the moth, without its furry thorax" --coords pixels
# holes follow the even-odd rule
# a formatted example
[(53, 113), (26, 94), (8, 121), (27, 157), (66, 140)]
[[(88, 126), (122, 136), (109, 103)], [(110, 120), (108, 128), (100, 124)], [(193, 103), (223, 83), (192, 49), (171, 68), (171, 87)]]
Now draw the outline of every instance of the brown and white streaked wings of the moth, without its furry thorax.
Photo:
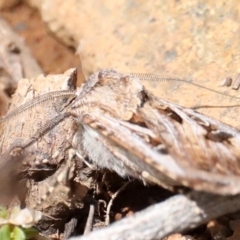
[(101, 112), (85, 114), (84, 124), (125, 149), (139, 175), (144, 171), (167, 184), (199, 191), (239, 193), (240, 132), (144, 91), (144, 103), (128, 122), (150, 130), (155, 138), (133, 132), (121, 119)]

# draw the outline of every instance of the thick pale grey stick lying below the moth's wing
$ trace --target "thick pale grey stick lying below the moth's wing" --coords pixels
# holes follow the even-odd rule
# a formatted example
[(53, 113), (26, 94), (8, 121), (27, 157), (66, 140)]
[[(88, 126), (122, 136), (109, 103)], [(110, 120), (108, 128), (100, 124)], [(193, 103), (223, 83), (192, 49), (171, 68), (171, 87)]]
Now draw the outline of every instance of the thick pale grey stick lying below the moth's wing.
[(176, 195), (107, 228), (70, 240), (162, 239), (239, 209), (240, 195), (224, 197), (192, 191), (189, 197)]

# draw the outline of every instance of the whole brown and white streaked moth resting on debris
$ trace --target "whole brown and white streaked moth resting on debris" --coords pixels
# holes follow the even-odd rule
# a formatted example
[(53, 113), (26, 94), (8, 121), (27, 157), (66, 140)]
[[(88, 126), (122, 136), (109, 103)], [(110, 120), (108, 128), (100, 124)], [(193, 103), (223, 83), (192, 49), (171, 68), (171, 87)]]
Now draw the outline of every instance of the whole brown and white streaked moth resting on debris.
[(46, 101), (67, 99), (59, 114), (21, 143), (21, 148), (72, 118), (76, 127), (71, 147), (90, 164), (165, 187), (240, 193), (239, 130), (154, 96), (140, 78), (101, 70), (79, 89), (41, 95), (8, 113), (0, 123)]

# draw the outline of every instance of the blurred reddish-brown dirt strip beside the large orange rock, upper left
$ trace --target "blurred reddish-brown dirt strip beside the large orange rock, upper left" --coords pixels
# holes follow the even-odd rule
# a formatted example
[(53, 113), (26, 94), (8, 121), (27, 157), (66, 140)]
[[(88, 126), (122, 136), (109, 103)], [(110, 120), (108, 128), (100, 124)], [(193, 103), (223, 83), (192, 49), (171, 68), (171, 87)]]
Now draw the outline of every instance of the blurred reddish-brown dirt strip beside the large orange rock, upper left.
[(79, 79), (83, 79), (81, 62), (73, 49), (69, 49), (51, 36), (39, 13), (25, 4), (1, 12), (3, 18), (24, 38), (43, 71), (63, 73), (69, 68), (78, 68)]

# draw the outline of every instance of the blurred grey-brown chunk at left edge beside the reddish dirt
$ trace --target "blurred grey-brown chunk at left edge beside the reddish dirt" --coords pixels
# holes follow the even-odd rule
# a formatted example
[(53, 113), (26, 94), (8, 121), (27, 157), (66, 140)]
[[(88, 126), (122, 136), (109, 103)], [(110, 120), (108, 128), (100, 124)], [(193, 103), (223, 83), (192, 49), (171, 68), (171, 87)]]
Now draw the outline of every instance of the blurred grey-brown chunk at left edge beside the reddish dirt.
[(6, 113), (18, 81), (41, 73), (24, 40), (0, 17), (0, 116)]

